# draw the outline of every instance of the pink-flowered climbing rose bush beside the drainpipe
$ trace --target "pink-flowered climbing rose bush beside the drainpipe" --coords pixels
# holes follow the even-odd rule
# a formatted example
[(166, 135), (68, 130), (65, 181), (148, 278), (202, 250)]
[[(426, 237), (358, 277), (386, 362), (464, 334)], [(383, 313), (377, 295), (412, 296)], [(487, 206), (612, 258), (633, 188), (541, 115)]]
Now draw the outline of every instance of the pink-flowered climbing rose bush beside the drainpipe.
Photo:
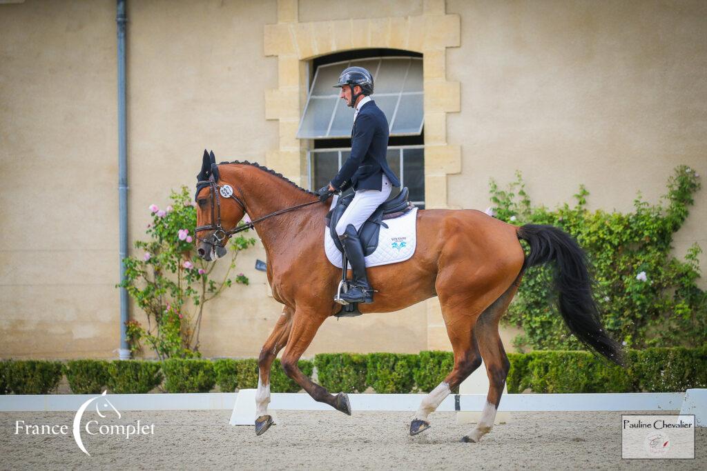
[[(197, 211), (189, 189), (182, 186), (170, 194), (170, 205), (160, 209), (152, 204), (147, 241), (135, 242), (136, 254), (123, 259), (125, 287), (136, 305), (147, 316), (147, 326), (136, 320), (127, 322), (127, 338), (132, 352), (142, 350), (142, 342), (159, 359), (199, 357), (199, 328), (204, 305), (223, 290), (239, 283), (248, 284), (243, 273), (231, 276), (241, 251), (255, 244), (255, 239), (231, 237), (228, 255), (215, 262), (205, 262), (196, 255)], [(212, 276), (216, 266), (228, 263), (226, 274)]]

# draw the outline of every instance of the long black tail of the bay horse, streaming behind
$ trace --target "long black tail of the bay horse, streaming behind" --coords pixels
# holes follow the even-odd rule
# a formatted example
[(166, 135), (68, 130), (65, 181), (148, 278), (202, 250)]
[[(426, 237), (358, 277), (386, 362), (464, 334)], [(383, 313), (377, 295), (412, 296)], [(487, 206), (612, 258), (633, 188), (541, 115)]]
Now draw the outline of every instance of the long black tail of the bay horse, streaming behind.
[(585, 254), (575, 239), (557, 227), (534, 224), (519, 227), (518, 239), (530, 244), (523, 270), (555, 262), (560, 314), (571, 332), (591, 350), (616, 364), (624, 364), (621, 347), (602, 326), (599, 309), (592, 298), (592, 280)]

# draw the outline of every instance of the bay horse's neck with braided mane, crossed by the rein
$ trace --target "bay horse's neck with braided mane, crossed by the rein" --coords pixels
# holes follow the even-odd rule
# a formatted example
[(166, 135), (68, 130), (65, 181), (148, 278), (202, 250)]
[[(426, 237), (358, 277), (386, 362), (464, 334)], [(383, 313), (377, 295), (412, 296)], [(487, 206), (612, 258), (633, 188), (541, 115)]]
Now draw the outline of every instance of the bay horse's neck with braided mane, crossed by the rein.
[[(234, 178), (235, 186), (243, 192), (246, 212), (250, 220), (257, 220), (276, 211), (315, 201), (315, 197), (311, 194), (260, 169), (243, 167), (238, 173)], [(268, 255), (271, 256), (292, 246), (293, 239), (301, 239), (315, 227), (321, 226), (326, 211), (327, 208), (323, 203), (305, 206), (257, 222), (254, 225), (255, 232)]]

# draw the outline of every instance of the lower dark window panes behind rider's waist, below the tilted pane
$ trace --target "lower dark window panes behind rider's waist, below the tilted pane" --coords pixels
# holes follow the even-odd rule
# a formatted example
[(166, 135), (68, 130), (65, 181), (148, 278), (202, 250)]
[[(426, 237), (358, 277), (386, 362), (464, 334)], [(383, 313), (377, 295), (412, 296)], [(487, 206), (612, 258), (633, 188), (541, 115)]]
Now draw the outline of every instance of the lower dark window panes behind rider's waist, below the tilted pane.
[[(341, 164), (349, 158), (351, 148), (312, 149), (308, 153), (310, 189), (320, 189), (334, 178)], [(425, 208), (425, 158), (422, 145), (398, 145), (388, 147), (390, 169), (400, 179), (400, 186), (407, 186), (410, 201), (418, 208)], [(351, 189), (349, 189), (351, 191)], [(393, 189), (390, 197), (399, 191)]]

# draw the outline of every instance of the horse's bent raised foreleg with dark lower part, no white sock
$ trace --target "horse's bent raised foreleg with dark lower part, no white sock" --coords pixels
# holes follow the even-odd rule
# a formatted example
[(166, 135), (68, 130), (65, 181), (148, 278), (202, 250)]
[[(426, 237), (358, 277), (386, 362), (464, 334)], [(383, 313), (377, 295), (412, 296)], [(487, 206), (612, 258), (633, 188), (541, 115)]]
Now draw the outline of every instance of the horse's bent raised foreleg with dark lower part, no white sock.
[(305, 350), (307, 350), (317, 330), (326, 318), (326, 316), (317, 314), (313, 310), (305, 311), (304, 309), (297, 309), (293, 319), (290, 340), (282, 355), (282, 367), (287, 376), (302, 386), (302, 388), (312, 396), (312, 399), (316, 400), (318, 403), (329, 404), (334, 407), (334, 409), (344, 412), (344, 414), (351, 415), (349, 396), (344, 393), (337, 395), (329, 394), (326, 388), (308, 378), (297, 366), (298, 360)]

